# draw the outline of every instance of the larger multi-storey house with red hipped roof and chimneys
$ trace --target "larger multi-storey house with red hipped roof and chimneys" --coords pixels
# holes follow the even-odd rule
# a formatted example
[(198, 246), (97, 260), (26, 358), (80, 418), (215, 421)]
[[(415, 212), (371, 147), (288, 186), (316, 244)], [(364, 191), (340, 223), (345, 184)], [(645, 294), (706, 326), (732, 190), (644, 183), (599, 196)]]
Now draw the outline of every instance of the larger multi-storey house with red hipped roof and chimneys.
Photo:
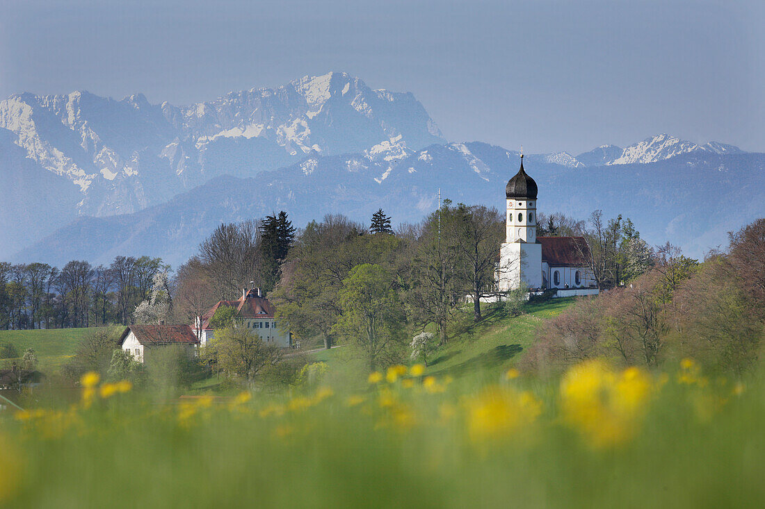
[(252, 334), (257, 334), (269, 345), (277, 345), (283, 348), (298, 348), (300, 345), (292, 338), (288, 329), (279, 325), (275, 319), (275, 308), (266, 299), (260, 288), (242, 290), (242, 297), (237, 300), (220, 300), (215, 306), (207, 310), (202, 316), (197, 316), (194, 321), (194, 334), (200, 339), (200, 345), (204, 346), (213, 339), (215, 331), (210, 327), (210, 319), (215, 315), (220, 306), (233, 307), (236, 310), (236, 327), (244, 327)]

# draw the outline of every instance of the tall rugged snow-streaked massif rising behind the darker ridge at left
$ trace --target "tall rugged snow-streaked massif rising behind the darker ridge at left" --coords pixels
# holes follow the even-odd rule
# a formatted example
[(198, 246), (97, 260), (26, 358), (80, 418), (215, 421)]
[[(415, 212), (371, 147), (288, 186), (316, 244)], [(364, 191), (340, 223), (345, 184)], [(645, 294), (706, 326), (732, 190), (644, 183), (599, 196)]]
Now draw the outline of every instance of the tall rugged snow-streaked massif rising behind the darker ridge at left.
[[(75, 212), (94, 216), (135, 212), (210, 178), (250, 177), (311, 152), (444, 141), (411, 93), (373, 90), (345, 73), (187, 107), (152, 105), (142, 94), (118, 101), (88, 92), (24, 93), (0, 102), (0, 130), (11, 131), (27, 157), (60, 177), (57, 191), (80, 191)], [(11, 171), (5, 155), (0, 175)]]

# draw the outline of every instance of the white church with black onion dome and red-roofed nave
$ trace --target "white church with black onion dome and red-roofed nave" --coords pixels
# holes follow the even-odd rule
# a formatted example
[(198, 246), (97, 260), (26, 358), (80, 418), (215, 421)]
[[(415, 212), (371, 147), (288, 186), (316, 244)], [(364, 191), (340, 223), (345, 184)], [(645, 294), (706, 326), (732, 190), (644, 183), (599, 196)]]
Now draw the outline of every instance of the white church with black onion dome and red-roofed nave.
[(584, 262), (589, 255), (584, 237), (538, 237), (537, 187), (521, 167), (505, 188), (506, 238), (500, 249), (498, 287), (515, 290), (521, 281), (531, 290), (557, 289), (555, 297), (598, 293), (592, 271)]

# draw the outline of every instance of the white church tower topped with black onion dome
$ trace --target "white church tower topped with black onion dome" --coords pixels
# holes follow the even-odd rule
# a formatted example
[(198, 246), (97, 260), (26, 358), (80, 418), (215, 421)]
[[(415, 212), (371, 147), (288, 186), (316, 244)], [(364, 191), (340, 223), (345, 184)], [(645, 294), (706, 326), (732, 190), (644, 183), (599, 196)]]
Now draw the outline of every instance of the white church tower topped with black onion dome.
[(521, 167), (505, 187), (505, 242), (500, 250), (500, 291), (515, 290), (524, 281), (542, 287), (542, 245), (536, 240), (536, 183)]

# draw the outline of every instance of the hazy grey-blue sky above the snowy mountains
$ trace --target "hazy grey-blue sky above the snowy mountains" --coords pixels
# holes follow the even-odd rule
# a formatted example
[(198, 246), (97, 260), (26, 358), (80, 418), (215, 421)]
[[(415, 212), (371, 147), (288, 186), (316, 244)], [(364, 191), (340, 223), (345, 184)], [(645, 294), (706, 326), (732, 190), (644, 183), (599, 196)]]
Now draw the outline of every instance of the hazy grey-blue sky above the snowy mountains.
[(188, 104), (344, 70), (444, 135), (578, 154), (659, 132), (765, 151), (765, 2), (0, 0), (0, 96)]

